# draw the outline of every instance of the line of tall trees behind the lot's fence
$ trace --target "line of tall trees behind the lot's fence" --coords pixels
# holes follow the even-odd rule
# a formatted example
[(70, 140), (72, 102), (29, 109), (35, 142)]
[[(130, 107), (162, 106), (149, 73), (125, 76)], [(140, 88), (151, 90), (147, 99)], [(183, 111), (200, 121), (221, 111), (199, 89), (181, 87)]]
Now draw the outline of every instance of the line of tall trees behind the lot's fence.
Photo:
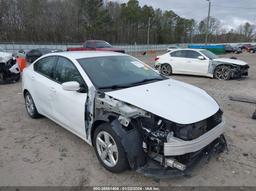
[[(138, 0), (0, 0), (1, 42), (77, 43), (102, 39), (113, 44), (203, 43), (206, 19), (197, 23), (174, 11), (140, 6)], [(226, 31), (210, 18), (209, 42), (242, 42), (255, 37), (245, 23)]]

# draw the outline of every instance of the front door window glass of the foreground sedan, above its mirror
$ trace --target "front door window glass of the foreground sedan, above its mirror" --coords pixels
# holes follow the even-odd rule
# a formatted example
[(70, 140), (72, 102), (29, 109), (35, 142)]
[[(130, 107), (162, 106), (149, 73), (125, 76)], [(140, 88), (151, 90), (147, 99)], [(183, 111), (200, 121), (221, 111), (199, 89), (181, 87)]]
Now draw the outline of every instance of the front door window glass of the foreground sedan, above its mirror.
[(59, 57), (55, 72), (54, 80), (59, 83), (76, 81), (80, 85), (84, 85), (84, 80), (75, 65), (68, 59)]

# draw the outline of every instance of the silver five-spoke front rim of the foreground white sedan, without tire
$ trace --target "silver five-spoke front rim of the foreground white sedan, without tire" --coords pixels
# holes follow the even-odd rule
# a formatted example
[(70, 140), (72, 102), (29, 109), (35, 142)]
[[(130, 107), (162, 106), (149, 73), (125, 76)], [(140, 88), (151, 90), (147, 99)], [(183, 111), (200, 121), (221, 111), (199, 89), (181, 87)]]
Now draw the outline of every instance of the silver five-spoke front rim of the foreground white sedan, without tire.
[(114, 167), (118, 161), (118, 149), (113, 137), (106, 131), (101, 131), (96, 138), (98, 155), (108, 167)]

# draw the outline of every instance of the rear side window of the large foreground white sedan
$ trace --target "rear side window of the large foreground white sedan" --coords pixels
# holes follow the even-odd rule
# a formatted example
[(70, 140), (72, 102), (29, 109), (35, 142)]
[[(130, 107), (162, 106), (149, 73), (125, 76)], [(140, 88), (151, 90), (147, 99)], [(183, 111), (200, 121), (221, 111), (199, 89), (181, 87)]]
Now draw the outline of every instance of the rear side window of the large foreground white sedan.
[(42, 58), (34, 64), (34, 70), (48, 78), (52, 78), (55, 64), (55, 56)]

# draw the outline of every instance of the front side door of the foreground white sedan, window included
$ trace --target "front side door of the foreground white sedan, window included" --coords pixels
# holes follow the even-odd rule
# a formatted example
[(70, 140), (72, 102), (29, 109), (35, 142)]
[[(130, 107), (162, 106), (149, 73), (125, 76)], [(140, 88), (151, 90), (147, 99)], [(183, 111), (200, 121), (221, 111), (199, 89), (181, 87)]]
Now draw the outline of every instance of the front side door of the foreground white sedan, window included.
[[(55, 87), (52, 90), (52, 108), (54, 120), (74, 134), (85, 139), (85, 105), (87, 86), (75, 64), (65, 58), (58, 57), (53, 74)], [(66, 91), (62, 88), (65, 82), (76, 81), (81, 91)]]

